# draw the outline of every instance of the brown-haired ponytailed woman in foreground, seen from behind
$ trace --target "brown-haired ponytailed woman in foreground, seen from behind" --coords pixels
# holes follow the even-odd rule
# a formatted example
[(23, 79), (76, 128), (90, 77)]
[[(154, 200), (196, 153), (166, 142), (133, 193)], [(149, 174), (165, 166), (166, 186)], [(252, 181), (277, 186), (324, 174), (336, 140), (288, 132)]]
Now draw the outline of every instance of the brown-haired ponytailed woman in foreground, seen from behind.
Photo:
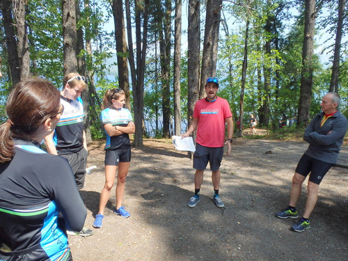
[(0, 260), (72, 260), (66, 228), (81, 230), (86, 207), (68, 161), (40, 148), (63, 109), (44, 79), (21, 81), (8, 97), (0, 125)]

